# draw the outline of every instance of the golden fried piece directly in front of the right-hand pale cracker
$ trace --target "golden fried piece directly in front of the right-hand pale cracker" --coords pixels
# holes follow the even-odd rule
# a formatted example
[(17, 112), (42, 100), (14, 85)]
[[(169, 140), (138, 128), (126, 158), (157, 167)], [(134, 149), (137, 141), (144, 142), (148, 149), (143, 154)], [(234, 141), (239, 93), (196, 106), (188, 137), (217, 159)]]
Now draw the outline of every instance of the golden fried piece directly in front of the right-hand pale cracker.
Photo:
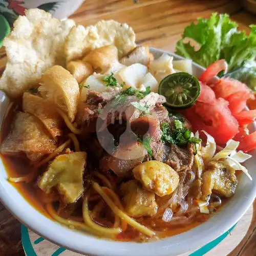
[(113, 63), (118, 61), (118, 51), (115, 46), (103, 46), (90, 51), (84, 62), (89, 62), (95, 70), (100, 69), (102, 73), (108, 70)]

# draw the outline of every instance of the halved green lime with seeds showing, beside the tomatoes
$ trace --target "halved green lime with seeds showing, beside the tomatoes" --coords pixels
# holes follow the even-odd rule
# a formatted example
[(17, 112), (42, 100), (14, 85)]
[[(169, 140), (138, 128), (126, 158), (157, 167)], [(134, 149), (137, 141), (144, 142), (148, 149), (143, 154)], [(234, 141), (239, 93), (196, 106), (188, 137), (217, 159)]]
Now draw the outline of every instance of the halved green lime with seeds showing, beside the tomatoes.
[(166, 76), (159, 84), (158, 93), (165, 96), (166, 104), (174, 109), (193, 105), (200, 95), (198, 79), (185, 72)]

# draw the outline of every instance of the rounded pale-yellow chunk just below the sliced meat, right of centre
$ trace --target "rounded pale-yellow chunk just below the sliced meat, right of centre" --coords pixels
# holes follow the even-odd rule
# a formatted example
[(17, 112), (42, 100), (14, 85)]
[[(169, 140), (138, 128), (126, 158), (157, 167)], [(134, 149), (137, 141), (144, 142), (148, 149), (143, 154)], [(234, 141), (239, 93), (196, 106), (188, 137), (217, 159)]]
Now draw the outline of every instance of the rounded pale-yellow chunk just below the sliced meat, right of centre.
[(173, 193), (179, 184), (179, 175), (175, 170), (156, 160), (135, 166), (133, 174), (145, 189), (153, 191), (160, 197)]

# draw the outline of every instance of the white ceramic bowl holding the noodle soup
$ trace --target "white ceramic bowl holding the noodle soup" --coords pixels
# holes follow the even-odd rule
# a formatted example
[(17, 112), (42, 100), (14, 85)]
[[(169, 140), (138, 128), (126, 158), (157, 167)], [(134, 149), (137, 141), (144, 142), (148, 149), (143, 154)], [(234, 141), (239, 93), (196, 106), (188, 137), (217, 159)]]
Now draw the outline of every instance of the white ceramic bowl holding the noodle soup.
[[(151, 49), (151, 51), (155, 57), (166, 53), (157, 49)], [(175, 54), (170, 55), (174, 56), (175, 59), (182, 59)], [(195, 63), (193, 64), (195, 76), (199, 76), (203, 71), (204, 68)], [(5, 94), (0, 92), (0, 122), (3, 120), (8, 102), (9, 100)], [(253, 127), (254, 130), (255, 126)], [(253, 157), (245, 165), (253, 181), (250, 181), (243, 174), (236, 194), (224, 205), (218, 214), (187, 232), (151, 243), (114, 242), (98, 239), (87, 233), (72, 230), (57, 222), (51, 221), (34, 209), (7, 181), (7, 174), (2, 161), (0, 161), (0, 198), (6, 208), (20, 222), (23, 222), (34, 232), (55, 244), (76, 252), (99, 256), (178, 255), (189, 250), (194, 250), (216, 239), (243, 216), (256, 195), (256, 172), (254, 167), (256, 152), (252, 152), (252, 155)]]

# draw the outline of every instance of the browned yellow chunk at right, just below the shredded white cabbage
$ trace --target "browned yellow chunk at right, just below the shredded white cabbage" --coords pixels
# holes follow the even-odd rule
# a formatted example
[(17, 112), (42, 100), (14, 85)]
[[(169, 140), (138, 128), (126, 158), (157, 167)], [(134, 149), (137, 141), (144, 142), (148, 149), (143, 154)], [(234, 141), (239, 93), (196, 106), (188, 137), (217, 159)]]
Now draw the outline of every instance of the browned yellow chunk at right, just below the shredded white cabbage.
[(202, 199), (206, 200), (212, 190), (220, 196), (231, 197), (238, 183), (234, 170), (216, 161), (211, 161), (208, 165), (211, 169), (202, 176)]

